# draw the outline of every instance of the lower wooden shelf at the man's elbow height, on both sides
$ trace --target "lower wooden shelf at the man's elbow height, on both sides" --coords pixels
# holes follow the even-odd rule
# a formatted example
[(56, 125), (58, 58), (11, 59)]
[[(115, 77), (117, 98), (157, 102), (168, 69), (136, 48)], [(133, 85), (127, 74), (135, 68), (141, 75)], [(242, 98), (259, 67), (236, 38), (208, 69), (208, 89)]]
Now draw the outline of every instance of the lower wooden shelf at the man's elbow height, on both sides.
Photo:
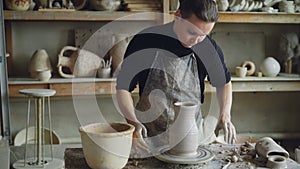
[[(10, 78), (9, 96), (24, 97), (20, 89), (44, 88), (56, 90), (55, 96), (107, 95), (115, 94), (116, 79), (101, 78), (52, 78), (41, 82), (31, 78)], [(205, 92), (214, 92), (215, 88), (206, 81)], [(233, 92), (291, 92), (300, 91), (300, 78), (290, 77), (232, 77)], [(134, 91), (138, 93), (138, 89)]]

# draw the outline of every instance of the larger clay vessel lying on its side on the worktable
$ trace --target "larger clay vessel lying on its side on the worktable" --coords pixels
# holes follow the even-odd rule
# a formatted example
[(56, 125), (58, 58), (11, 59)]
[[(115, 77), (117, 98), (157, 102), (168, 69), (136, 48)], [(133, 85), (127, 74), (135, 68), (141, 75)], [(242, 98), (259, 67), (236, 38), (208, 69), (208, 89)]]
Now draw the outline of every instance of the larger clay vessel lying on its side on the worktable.
[(257, 141), (255, 150), (259, 156), (268, 158), (273, 155), (289, 157), (289, 153), (278, 145), (271, 137), (264, 137)]

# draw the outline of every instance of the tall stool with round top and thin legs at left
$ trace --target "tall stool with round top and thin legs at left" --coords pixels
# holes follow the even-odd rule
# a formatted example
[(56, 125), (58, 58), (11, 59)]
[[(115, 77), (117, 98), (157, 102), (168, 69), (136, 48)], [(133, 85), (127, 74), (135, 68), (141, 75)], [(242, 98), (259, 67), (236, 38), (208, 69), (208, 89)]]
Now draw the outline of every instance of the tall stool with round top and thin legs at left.
[[(13, 164), (15, 169), (25, 168), (45, 168), (45, 169), (60, 169), (64, 168), (64, 162), (59, 159), (53, 158), (53, 139), (52, 139), (52, 124), (51, 124), (51, 111), (50, 111), (50, 96), (55, 95), (56, 91), (51, 89), (22, 89), (19, 91), (21, 94), (28, 96), (28, 109), (27, 109), (27, 122), (26, 122), (26, 138), (25, 138), (25, 153), (24, 160), (19, 160)], [(45, 113), (45, 97), (48, 98), (48, 117), (49, 117), (49, 129), (50, 129), (50, 146), (51, 146), (51, 158), (45, 157), (44, 143), (44, 113)], [(35, 113), (36, 113), (36, 149), (34, 151), (33, 158), (27, 158), (27, 136), (30, 118), (30, 100), (35, 100)]]

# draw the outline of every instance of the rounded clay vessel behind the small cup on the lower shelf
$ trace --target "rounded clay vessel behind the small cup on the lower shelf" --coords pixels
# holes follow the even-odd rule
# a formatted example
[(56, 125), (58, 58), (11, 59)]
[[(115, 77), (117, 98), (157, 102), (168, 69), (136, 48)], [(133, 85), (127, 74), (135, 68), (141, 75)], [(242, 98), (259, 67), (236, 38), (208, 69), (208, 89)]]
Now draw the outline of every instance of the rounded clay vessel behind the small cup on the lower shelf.
[(50, 70), (50, 72), (52, 71), (51, 62), (45, 49), (36, 50), (30, 58), (30, 76), (32, 78), (37, 78), (37, 71), (39, 70)]

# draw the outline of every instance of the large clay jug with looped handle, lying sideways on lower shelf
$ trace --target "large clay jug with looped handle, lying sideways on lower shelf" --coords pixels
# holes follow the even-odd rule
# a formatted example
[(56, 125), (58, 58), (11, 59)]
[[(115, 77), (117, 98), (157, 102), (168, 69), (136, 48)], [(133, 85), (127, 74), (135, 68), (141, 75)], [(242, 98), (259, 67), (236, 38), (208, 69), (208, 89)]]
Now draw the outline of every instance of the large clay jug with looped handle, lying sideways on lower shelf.
[[(71, 56), (64, 55), (67, 51), (73, 52)], [(58, 73), (65, 78), (96, 77), (102, 60), (101, 57), (88, 50), (65, 46), (58, 55)], [(69, 68), (71, 74), (63, 72), (63, 67)]]

